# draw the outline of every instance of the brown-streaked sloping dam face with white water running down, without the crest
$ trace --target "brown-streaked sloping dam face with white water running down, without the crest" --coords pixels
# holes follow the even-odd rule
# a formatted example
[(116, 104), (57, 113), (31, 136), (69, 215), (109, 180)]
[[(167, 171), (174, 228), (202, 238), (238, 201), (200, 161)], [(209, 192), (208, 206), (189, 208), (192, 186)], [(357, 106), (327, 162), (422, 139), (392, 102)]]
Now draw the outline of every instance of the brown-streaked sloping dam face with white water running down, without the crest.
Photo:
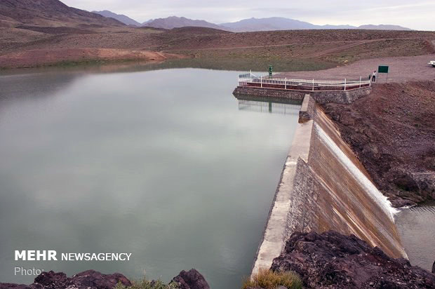
[(319, 109), (307, 163), (295, 175), (288, 230), (354, 234), (391, 257), (406, 257), (387, 197), (375, 187), (340, 133)]

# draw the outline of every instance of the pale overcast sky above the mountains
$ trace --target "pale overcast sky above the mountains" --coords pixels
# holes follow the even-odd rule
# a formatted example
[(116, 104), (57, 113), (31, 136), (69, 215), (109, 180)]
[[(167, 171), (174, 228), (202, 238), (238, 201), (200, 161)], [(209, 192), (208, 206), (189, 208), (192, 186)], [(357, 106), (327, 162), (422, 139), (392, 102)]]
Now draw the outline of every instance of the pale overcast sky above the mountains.
[(109, 10), (138, 22), (185, 16), (213, 23), (286, 17), (316, 25), (393, 24), (435, 30), (434, 0), (61, 0), (88, 11)]

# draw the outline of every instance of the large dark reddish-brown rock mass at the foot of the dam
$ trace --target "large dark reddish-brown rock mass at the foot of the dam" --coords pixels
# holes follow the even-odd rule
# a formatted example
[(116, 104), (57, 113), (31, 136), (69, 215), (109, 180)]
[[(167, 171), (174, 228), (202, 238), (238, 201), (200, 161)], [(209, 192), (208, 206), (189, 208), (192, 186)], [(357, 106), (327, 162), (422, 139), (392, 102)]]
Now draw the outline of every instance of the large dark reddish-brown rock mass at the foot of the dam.
[(297, 272), (304, 288), (435, 288), (435, 275), (429, 271), (335, 231), (293, 234), (272, 270)]

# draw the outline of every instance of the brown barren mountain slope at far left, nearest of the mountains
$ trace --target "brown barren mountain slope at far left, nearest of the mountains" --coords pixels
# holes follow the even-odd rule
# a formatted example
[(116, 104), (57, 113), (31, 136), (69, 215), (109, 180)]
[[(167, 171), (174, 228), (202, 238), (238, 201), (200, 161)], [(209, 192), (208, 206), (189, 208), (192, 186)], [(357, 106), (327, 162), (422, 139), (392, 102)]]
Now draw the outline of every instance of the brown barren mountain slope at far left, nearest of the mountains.
[(58, 0), (1, 0), (0, 27), (15, 27), (22, 24), (36, 26), (124, 25), (112, 18), (69, 7)]

